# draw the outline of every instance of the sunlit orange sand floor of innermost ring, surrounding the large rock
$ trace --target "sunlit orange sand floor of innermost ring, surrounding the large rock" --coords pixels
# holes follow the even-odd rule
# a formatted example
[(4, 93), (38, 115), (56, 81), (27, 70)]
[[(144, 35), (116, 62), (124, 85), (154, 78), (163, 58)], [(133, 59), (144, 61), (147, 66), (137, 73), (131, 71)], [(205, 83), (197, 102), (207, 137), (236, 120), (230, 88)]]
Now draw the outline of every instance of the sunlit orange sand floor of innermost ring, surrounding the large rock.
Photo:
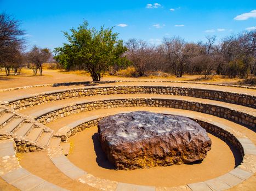
[(125, 183), (173, 187), (223, 175), (235, 166), (230, 147), (219, 138), (208, 134), (212, 140), (212, 150), (201, 164), (114, 170), (114, 166), (101, 150), (97, 130), (97, 127), (92, 127), (73, 136), (70, 139), (73, 148), (68, 156), (73, 164), (96, 177)]

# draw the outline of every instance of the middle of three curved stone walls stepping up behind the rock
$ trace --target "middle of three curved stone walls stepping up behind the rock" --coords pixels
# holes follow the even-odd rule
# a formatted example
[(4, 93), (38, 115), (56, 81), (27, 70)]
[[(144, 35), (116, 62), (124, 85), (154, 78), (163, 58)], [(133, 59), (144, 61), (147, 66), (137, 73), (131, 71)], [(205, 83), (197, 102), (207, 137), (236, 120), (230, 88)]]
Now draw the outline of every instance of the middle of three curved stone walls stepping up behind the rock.
[(85, 111), (92, 111), (98, 109), (107, 108), (123, 108), (123, 107), (134, 107), (134, 106), (151, 106), (151, 107), (162, 107), (162, 108), (175, 108), (185, 109), (205, 114), (210, 114), (225, 118), (236, 123), (240, 123), (243, 126), (252, 128), (255, 130), (256, 118), (249, 114), (244, 114), (240, 111), (231, 110), (217, 105), (210, 105), (204, 103), (190, 102), (186, 100), (174, 100), (174, 99), (147, 99), (147, 98), (135, 98), (135, 99), (109, 99), (109, 100), (98, 100), (93, 102), (86, 102), (81, 104), (75, 104), (65, 106), (62, 109), (48, 112), (42, 116), (39, 116), (36, 120), (40, 123), (46, 124), (51, 121), (57, 120), (58, 118), (66, 117), (72, 114), (77, 114)]

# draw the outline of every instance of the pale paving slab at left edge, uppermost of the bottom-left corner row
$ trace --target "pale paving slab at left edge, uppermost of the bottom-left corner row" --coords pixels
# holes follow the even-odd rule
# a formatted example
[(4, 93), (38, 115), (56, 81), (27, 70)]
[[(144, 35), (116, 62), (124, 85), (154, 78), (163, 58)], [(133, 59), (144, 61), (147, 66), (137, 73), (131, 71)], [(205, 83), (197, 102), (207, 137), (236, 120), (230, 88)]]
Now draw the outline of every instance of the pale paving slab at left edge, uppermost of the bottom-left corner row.
[(18, 181), (26, 176), (29, 176), (29, 175), (30, 175), (29, 171), (27, 171), (24, 168), (19, 168), (19, 169), (13, 170), (7, 174), (2, 175), (1, 177), (6, 182), (12, 183), (12, 182)]

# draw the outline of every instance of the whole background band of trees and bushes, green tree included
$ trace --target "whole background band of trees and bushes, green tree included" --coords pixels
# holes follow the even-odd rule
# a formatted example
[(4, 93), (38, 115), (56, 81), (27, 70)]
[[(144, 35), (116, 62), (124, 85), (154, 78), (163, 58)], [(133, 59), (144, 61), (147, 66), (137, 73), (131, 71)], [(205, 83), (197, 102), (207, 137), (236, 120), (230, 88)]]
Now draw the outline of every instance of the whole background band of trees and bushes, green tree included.
[[(19, 75), (22, 67), (42, 75), (43, 68), (62, 68), (66, 71), (84, 70), (93, 81), (104, 74), (139, 77), (147, 75), (182, 77), (187, 75), (212, 75), (249, 78), (255, 82), (256, 31), (230, 34), (217, 41), (207, 36), (204, 41), (187, 42), (180, 37), (163, 38), (152, 45), (145, 40), (118, 39), (113, 28), (90, 28), (84, 21), (78, 28), (64, 32), (67, 43), (53, 50), (33, 46), (26, 48), (25, 31), (20, 21), (8, 14), (0, 14), (0, 68), (6, 75)], [(50, 61), (51, 60), (51, 61)]]

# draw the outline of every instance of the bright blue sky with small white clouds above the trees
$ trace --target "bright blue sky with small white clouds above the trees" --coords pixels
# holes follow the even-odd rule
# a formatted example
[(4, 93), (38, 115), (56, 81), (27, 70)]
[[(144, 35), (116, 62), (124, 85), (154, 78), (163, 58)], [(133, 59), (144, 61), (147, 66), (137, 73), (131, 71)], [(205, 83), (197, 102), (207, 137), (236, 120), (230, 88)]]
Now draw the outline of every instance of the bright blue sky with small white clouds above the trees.
[[(64, 43), (61, 31), (88, 20), (89, 25), (114, 28), (121, 39), (139, 38), (160, 43), (179, 35), (186, 41), (218, 39), (256, 28), (256, 0), (252, 1), (7, 1), (0, 11), (22, 21), (29, 47), (54, 49)], [(119, 25), (119, 26), (117, 26)]]

